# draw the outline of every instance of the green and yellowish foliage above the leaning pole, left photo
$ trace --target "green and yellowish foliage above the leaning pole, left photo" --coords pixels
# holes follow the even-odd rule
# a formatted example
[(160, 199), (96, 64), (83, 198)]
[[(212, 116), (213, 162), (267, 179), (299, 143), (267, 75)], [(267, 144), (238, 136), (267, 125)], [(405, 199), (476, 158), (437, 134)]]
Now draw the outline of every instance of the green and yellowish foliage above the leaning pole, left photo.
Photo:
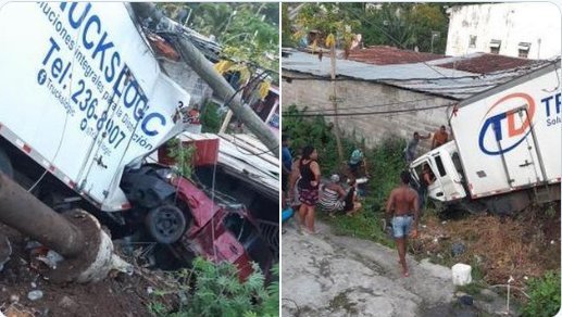
[[(221, 45), (221, 74), (238, 73), (238, 84), (263, 69), (263, 90), (278, 83), (279, 4), (263, 3), (159, 3), (167, 16), (208, 36)], [(233, 83), (234, 84), (234, 83)], [(263, 98), (263, 96), (262, 96)]]

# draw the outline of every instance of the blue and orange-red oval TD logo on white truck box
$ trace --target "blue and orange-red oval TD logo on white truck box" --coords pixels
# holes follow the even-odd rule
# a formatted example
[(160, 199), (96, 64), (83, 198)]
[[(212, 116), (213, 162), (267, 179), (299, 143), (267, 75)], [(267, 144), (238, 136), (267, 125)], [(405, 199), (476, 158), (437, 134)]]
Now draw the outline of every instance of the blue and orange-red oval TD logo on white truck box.
[[(517, 115), (516, 109), (520, 107), (521, 103), (516, 104), (516, 109), (512, 107), (509, 111), (489, 116), (490, 112), (498, 105), (504, 104), (508, 101), (513, 104), (512, 99), (523, 100), (523, 103), (527, 105), (527, 116), (519, 127), (516, 126), (517, 123), (515, 122), (515, 115)], [(534, 115), (535, 100), (533, 100), (533, 98), (527, 93), (515, 92), (501, 98), (491, 105), (488, 112), (484, 115), (484, 125), (478, 137), (478, 145), (480, 147), (480, 150), (488, 155), (500, 155), (515, 149), (530, 132), (529, 127)], [(505, 125), (504, 122), (507, 122), (508, 132), (505, 137), (502, 131), (502, 127)], [(496, 141), (494, 143), (495, 149), (490, 149), (492, 147), (490, 147), (489, 143), (485, 144), (484, 142), (486, 136), (489, 134), (494, 134), (494, 140)], [(507, 142), (502, 142), (500, 148), (499, 144), (503, 139), (505, 139)]]

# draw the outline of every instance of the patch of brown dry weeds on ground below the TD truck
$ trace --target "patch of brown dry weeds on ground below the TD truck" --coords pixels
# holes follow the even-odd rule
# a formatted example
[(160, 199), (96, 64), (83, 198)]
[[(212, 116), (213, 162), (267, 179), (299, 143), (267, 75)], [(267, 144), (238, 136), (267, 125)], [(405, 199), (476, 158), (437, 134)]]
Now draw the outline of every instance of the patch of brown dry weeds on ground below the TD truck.
[[(523, 287), (532, 277), (560, 269), (560, 207), (529, 208), (516, 217), (470, 215), (445, 219), (427, 215), (412, 251), (442, 264), (465, 263), (488, 284), (504, 284), (510, 276)], [(464, 252), (453, 256), (453, 244)], [(478, 276), (479, 275), (479, 276)]]

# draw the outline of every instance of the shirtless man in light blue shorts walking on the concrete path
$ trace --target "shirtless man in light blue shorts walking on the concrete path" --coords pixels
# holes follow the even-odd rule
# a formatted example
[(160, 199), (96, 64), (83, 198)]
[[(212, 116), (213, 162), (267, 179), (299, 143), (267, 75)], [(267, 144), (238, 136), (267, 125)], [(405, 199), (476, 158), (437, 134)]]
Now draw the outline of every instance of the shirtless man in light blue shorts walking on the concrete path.
[(410, 174), (404, 170), (400, 174), (400, 178), (402, 183), (390, 192), (388, 203), (386, 204), (386, 214), (387, 219), (392, 216), (392, 231), (400, 264), (402, 265), (402, 275), (408, 277), (410, 274), (408, 271), (408, 266), (405, 265), (407, 239), (409, 233), (413, 238), (417, 236), (420, 213), (417, 206), (417, 193), (408, 185), (410, 182)]

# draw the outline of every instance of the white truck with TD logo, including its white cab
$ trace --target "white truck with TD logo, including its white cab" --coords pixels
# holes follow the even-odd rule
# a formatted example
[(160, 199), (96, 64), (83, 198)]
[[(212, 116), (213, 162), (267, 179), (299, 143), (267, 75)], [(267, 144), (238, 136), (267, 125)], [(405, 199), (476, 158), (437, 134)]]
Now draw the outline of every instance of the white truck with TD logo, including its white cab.
[(410, 165), (428, 196), (472, 212), (511, 214), (533, 202), (560, 202), (560, 60), (473, 96), (450, 110), (454, 140)]

